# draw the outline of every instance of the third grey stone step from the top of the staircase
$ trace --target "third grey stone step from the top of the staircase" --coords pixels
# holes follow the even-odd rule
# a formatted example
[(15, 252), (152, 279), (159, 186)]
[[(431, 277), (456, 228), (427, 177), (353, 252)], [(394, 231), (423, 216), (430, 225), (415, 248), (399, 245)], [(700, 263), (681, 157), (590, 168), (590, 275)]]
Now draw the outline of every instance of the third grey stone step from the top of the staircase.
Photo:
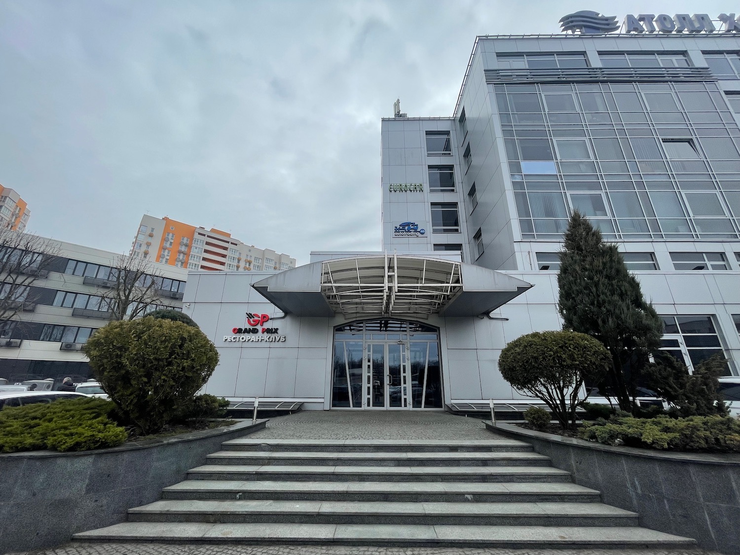
[(571, 474), (548, 466), (302, 466), (203, 465), (191, 480), (291, 480), (312, 482), (570, 482)]

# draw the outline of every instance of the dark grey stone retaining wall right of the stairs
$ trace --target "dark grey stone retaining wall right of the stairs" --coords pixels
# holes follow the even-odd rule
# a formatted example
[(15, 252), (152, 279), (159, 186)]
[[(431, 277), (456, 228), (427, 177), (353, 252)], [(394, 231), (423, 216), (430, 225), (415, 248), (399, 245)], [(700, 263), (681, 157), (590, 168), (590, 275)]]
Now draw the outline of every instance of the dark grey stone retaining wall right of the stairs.
[(639, 514), (652, 528), (696, 539), (703, 548), (740, 554), (740, 456), (612, 447), (511, 424), (485, 423), (551, 458), (602, 501)]

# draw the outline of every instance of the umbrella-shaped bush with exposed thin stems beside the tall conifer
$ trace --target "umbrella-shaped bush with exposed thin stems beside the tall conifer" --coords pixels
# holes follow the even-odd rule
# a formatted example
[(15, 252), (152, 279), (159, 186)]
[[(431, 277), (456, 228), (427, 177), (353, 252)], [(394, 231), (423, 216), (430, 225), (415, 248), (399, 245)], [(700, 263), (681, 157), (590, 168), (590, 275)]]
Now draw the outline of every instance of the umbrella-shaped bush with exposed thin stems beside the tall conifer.
[(611, 362), (598, 340), (576, 332), (534, 332), (501, 351), (499, 371), (517, 391), (538, 397), (562, 428), (574, 427), (583, 382), (598, 381)]

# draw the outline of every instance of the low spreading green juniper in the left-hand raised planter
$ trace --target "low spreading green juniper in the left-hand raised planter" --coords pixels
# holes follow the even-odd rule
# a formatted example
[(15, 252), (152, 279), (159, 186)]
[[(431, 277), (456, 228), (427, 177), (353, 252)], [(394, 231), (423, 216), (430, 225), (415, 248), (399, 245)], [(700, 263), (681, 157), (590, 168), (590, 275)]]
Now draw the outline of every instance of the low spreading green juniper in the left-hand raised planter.
[(121, 445), (124, 428), (110, 420), (115, 405), (104, 399), (59, 400), (0, 411), (0, 451), (87, 451)]

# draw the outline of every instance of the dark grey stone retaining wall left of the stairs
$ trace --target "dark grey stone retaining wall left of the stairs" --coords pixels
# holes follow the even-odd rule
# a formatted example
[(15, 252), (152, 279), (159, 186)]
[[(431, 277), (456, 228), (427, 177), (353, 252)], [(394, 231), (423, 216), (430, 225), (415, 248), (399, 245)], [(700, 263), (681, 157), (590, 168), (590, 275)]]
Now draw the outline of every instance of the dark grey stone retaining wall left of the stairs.
[(158, 500), (221, 442), (266, 423), (246, 420), (98, 451), (0, 454), (0, 553), (47, 548), (75, 532), (124, 522), (129, 508)]

